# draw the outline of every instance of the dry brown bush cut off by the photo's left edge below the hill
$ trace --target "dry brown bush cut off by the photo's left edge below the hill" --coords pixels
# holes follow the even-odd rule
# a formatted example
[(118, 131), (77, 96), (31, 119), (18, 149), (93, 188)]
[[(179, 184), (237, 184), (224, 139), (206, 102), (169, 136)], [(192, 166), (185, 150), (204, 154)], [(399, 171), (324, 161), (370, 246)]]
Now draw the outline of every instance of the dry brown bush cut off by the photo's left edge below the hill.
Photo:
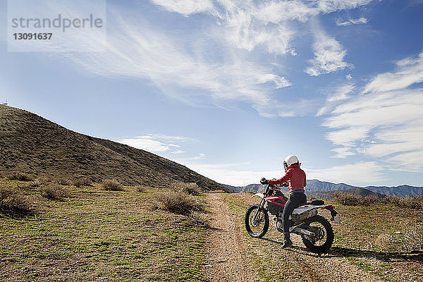
[(9, 215), (31, 214), (32, 210), (25, 197), (17, 191), (0, 188), (0, 212)]

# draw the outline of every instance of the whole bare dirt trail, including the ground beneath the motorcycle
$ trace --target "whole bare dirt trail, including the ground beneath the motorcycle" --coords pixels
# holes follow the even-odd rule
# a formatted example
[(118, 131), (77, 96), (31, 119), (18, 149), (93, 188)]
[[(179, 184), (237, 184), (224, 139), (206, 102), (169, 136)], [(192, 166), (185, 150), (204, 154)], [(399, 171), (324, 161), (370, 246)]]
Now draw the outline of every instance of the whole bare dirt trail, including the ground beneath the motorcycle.
[[(350, 264), (345, 257), (318, 256), (309, 252), (298, 235), (292, 236), (293, 247), (281, 249), (282, 237), (271, 231), (274, 226), (270, 226), (264, 239), (251, 238), (259, 242), (246, 245), (240, 214), (229, 209), (222, 195), (209, 194), (207, 202), (212, 207), (212, 231), (207, 245), (209, 262), (205, 274), (210, 281), (265, 281), (266, 278), (271, 281), (382, 281)], [(251, 252), (255, 252), (255, 257), (263, 258), (262, 264), (276, 266), (271, 273), (264, 275), (267, 277), (263, 273), (259, 276), (253, 268), (252, 260), (248, 259)]]

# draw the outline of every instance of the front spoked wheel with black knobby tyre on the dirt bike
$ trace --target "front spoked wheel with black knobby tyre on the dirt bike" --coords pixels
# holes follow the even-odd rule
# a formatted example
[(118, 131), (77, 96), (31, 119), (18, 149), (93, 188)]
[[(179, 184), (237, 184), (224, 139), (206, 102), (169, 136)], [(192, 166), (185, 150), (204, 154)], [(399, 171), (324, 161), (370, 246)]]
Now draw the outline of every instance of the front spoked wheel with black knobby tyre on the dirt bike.
[(269, 229), (269, 214), (265, 209), (259, 209), (258, 204), (252, 205), (245, 213), (245, 229), (254, 238), (262, 238)]

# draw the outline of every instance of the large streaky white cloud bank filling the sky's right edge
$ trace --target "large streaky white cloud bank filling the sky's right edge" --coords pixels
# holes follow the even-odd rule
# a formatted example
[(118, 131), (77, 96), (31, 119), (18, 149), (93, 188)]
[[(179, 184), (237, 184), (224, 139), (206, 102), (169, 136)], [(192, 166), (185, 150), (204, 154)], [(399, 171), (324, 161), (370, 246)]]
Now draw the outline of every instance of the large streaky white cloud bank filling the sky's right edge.
[(324, 126), (327, 139), (338, 147), (338, 157), (361, 153), (391, 164), (392, 169), (423, 168), (423, 88), (418, 82), (422, 54), (396, 63), (394, 73), (381, 73), (364, 92), (338, 105)]

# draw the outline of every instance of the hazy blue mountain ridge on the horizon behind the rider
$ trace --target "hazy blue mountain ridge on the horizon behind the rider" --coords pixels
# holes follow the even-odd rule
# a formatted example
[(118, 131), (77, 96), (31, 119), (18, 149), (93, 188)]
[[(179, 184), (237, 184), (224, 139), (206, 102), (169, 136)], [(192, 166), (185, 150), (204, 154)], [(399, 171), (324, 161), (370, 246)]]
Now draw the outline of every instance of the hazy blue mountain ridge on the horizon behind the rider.
[[(224, 185), (226, 188), (231, 189), (235, 192), (257, 192), (262, 189), (263, 185), (261, 184), (250, 184), (243, 187), (236, 187), (230, 185)], [(388, 196), (397, 196), (397, 197), (416, 197), (423, 193), (423, 187), (415, 187), (410, 185), (399, 185), (396, 187), (386, 187), (386, 186), (367, 186), (367, 187), (357, 187), (353, 185), (348, 185), (345, 183), (331, 183), (326, 181), (320, 181), (317, 179), (307, 180), (307, 186), (305, 188), (306, 192), (309, 192), (310, 195), (321, 195), (321, 197), (331, 197), (331, 192), (336, 190), (349, 190), (353, 192), (355, 189), (360, 188), (361, 190), (368, 190), (371, 192), (379, 193), (379, 195), (388, 195)], [(360, 190), (360, 191), (361, 191)], [(359, 190), (357, 190), (359, 191)], [(314, 193), (319, 192), (319, 193)], [(333, 193), (332, 193), (333, 194)]]

